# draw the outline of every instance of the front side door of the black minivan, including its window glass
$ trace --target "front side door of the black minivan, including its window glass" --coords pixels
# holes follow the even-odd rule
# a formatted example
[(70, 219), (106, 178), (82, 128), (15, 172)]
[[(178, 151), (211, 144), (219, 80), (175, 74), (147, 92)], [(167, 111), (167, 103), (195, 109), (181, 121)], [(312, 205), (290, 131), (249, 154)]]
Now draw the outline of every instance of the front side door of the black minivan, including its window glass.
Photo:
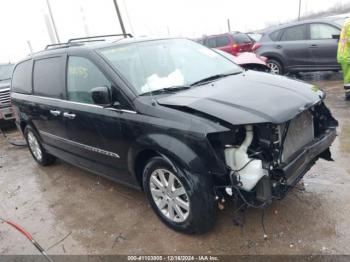
[(71, 140), (71, 151), (78, 165), (131, 182), (127, 174), (126, 151), (123, 150), (120, 113), (95, 105), (91, 89), (112, 82), (88, 58), (69, 56), (67, 62), (67, 106), (63, 113)]

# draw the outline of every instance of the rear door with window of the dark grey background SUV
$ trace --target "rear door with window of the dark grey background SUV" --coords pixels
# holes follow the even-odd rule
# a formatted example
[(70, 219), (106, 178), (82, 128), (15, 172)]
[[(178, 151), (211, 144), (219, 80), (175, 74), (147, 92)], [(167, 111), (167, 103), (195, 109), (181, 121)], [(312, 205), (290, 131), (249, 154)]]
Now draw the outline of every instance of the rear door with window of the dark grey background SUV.
[(307, 68), (313, 65), (307, 38), (307, 25), (302, 24), (285, 28), (280, 41), (275, 42), (275, 48), (282, 53), (288, 68)]

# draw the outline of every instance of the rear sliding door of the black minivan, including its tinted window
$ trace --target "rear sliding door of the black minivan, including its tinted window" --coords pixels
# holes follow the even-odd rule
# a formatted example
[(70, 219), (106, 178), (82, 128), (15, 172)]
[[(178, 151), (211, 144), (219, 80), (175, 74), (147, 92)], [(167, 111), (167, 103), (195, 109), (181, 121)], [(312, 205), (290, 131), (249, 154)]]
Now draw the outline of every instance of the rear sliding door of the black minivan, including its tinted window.
[(63, 118), (66, 55), (34, 60), (33, 96), (28, 97), (31, 120), (44, 143), (67, 150), (67, 130)]

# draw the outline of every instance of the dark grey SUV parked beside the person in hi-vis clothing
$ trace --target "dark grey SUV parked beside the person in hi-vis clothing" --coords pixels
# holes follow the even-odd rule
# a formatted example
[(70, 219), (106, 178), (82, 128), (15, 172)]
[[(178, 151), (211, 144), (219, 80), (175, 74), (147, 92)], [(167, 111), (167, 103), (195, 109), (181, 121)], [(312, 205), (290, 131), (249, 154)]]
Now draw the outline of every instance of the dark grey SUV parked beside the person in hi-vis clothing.
[(266, 56), (275, 74), (340, 70), (337, 63), (339, 18), (324, 18), (267, 29), (254, 50)]

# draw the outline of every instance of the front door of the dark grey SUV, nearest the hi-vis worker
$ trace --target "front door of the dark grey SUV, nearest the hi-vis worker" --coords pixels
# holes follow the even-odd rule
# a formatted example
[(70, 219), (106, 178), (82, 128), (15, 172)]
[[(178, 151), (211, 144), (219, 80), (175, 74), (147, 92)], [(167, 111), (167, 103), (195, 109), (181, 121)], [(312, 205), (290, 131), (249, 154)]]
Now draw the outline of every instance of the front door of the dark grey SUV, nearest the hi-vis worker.
[(329, 69), (338, 67), (338, 40), (333, 39), (333, 35), (340, 35), (340, 29), (326, 23), (311, 23), (309, 32), (308, 48), (315, 66)]

